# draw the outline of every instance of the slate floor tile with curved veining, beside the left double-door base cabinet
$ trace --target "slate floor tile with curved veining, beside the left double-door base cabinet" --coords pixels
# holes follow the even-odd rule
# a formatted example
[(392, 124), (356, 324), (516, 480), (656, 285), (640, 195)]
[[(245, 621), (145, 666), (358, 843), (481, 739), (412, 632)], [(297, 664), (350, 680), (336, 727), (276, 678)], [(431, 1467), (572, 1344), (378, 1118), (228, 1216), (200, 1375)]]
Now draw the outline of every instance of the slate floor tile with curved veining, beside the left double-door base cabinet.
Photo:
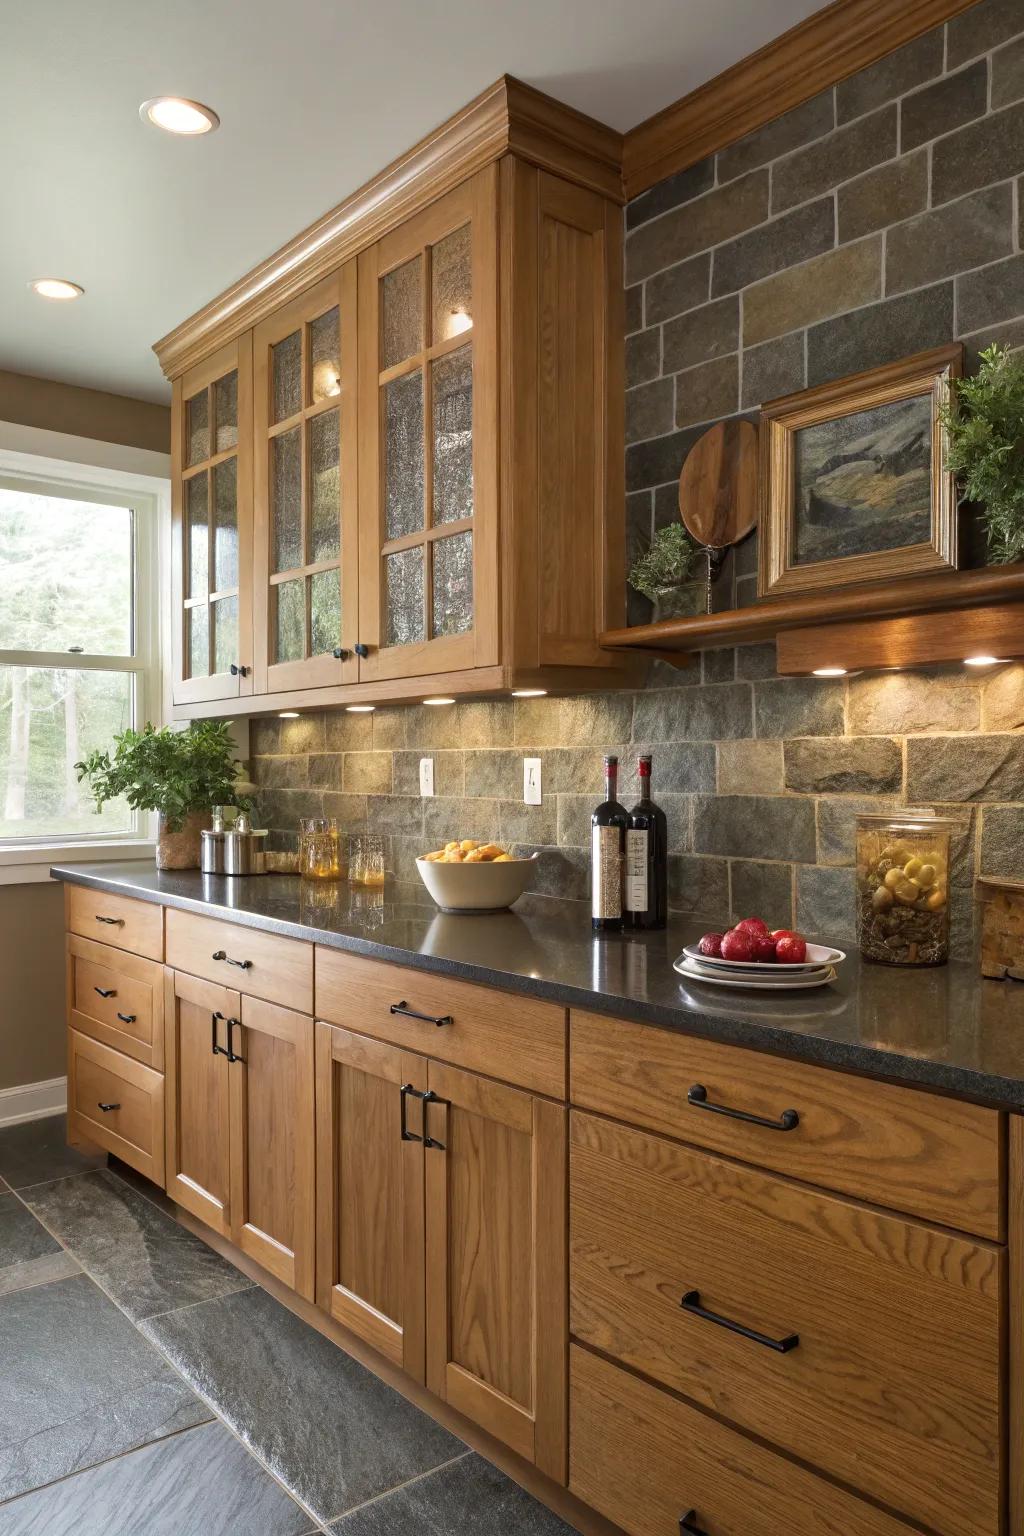
[(137, 1321), (252, 1284), (106, 1169), (28, 1189), (25, 1200)]

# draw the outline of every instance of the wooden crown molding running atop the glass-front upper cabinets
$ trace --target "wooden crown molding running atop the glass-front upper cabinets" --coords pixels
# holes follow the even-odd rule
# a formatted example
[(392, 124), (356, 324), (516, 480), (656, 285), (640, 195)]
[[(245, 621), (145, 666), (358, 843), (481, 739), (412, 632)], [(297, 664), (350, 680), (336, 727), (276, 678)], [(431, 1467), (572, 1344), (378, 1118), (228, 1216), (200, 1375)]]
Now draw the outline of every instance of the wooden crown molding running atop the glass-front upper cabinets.
[(622, 134), (502, 75), (373, 180), (154, 344), (173, 379), (504, 154), (616, 203)]

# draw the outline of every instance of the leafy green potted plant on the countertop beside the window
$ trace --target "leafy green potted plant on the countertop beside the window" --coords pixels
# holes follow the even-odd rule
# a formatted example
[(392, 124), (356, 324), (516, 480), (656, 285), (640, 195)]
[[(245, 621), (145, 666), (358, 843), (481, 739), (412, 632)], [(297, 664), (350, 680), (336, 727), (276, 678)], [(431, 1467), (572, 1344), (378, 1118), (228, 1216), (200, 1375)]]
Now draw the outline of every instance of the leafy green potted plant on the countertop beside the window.
[(75, 763), (97, 809), (121, 796), (135, 811), (157, 811), (157, 868), (198, 869), (200, 833), (215, 805), (249, 802), (236, 791), (241, 765), (224, 720), (193, 720), (186, 731), (146, 725), (121, 731), (114, 751)]

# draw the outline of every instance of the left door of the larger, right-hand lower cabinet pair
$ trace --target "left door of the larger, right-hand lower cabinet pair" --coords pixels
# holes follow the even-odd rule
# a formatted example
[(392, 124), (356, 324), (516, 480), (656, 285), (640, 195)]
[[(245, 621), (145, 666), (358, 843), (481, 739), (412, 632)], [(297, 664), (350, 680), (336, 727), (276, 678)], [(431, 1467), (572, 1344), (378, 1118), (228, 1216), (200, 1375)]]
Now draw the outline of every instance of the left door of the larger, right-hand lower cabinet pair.
[(316, 1025), (316, 1301), (424, 1381), (424, 1094), (411, 1051)]

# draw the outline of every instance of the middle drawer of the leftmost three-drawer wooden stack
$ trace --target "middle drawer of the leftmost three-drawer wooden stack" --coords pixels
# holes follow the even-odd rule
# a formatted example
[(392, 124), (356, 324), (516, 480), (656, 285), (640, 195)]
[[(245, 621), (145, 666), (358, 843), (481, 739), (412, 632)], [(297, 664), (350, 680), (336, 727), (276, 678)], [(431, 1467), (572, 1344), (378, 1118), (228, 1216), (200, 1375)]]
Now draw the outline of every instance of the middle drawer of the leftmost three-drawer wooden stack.
[(68, 1021), (163, 1072), (164, 968), (68, 934)]

